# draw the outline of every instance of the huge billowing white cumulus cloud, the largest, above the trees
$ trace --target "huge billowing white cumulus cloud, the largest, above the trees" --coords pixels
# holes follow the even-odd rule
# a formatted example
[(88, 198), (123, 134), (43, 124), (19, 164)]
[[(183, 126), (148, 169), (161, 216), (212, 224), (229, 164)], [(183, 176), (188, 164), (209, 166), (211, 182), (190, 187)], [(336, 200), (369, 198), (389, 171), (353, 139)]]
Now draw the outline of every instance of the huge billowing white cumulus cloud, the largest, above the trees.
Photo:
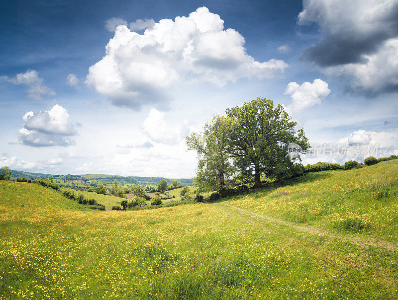
[(162, 19), (143, 34), (119, 25), (86, 83), (114, 105), (139, 109), (164, 103), (167, 89), (182, 82), (224, 86), (242, 77), (271, 78), (287, 68), (281, 60), (255, 61), (244, 44), (239, 32), (224, 29), (220, 16), (206, 7)]

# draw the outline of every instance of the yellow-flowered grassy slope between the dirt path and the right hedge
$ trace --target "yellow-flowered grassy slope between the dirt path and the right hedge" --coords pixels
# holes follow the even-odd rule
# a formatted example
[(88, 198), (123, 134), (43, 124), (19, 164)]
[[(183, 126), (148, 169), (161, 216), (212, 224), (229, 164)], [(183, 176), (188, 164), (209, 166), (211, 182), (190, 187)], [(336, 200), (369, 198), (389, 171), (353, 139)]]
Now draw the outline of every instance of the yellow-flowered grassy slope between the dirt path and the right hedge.
[(397, 241), (398, 160), (349, 171), (310, 173), (287, 185), (230, 201), (234, 206), (296, 224)]

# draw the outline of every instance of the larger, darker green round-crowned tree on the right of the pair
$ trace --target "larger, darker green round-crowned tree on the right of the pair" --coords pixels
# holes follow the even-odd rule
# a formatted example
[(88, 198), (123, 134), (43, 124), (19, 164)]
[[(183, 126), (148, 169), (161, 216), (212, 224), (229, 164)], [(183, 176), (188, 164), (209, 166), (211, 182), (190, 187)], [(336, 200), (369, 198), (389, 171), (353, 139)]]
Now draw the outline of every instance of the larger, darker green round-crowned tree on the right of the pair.
[[(284, 107), (274, 102), (257, 98), (241, 107), (226, 110), (233, 120), (230, 131), (230, 154), (242, 174), (255, 179), (255, 188), (261, 187), (261, 174), (268, 177), (283, 177), (295, 172), (299, 156), (289, 156), (289, 145), (299, 146), (299, 152), (309, 148), (303, 129), (296, 130)], [(287, 176), (289, 177), (289, 176)]]

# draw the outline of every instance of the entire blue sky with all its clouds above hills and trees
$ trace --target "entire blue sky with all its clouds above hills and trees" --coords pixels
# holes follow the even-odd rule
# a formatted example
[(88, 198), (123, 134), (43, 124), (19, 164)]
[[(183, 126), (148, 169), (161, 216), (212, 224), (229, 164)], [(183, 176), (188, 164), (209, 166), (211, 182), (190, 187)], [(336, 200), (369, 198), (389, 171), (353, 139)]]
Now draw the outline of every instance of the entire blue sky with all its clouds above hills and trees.
[(397, 154), (397, 1), (0, 8), (0, 165), (190, 177), (184, 136), (259, 96), (284, 104), (313, 144)]

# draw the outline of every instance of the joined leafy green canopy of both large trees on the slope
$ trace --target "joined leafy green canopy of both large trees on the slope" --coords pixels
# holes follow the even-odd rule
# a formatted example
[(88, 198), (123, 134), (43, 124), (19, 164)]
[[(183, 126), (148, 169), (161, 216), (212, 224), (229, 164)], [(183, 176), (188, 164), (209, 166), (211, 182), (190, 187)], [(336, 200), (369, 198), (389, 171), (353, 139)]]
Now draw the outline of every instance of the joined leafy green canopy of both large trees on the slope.
[(308, 139), (283, 105), (259, 97), (227, 109), (226, 115), (214, 116), (186, 139), (188, 149), (198, 153), (194, 183), (199, 189), (223, 189), (238, 177), (254, 179), (259, 188), (262, 174), (285, 179), (302, 173), (299, 155), (289, 155), (289, 148), (305, 153)]

